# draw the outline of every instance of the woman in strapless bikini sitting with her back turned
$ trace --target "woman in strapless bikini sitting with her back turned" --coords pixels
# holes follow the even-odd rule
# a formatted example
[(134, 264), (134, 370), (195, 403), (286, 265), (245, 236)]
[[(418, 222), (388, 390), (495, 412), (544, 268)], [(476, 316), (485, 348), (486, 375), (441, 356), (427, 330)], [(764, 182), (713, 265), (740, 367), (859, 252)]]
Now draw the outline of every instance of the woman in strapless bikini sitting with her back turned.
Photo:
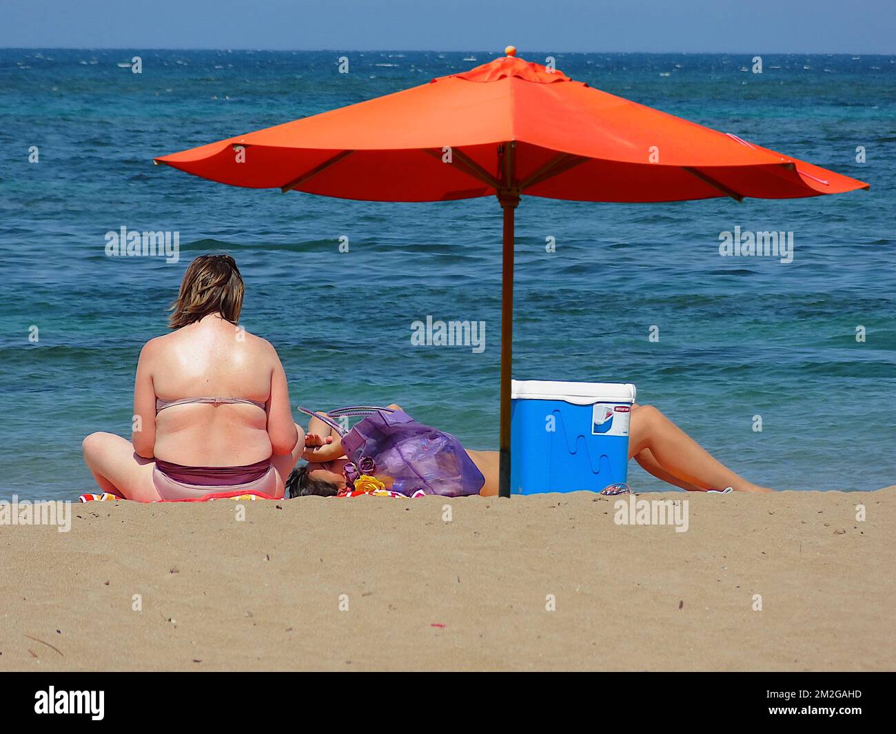
[(171, 307), (175, 331), (140, 353), (131, 441), (84, 439), (84, 461), (104, 491), (139, 502), (250, 490), (283, 497), (305, 436), (277, 352), (237, 326), (243, 292), (229, 255), (187, 267)]

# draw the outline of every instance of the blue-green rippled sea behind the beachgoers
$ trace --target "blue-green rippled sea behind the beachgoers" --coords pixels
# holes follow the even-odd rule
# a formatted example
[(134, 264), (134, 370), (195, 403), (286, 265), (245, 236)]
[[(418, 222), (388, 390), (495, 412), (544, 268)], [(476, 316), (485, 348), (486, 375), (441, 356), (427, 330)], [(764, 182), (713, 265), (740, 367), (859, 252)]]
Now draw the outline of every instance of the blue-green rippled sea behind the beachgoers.
[[(521, 52), (548, 55), (591, 86), (871, 190), (742, 204), (524, 199), (515, 376), (633, 382), (639, 402), (774, 488), (896, 484), (896, 57), (762, 55), (758, 74), (752, 56)], [(91, 488), (82, 437), (129, 434), (142, 344), (166, 331), (186, 264), (208, 252), (237, 259), (243, 323), (280, 352), (294, 404), (401, 402), (496, 448), (494, 199), (350, 202), (152, 165), (492, 57), (0, 50), (0, 497)], [(179, 262), (108, 257), (106, 233), (121, 227), (179, 232)], [(719, 234), (735, 227), (792, 231), (793, 262), (721, 257)], [(412, 346), (410, 324), (427, 315), (485, 322), (486, 349)], [(665, 488), (634, 462), (629, 476)]]

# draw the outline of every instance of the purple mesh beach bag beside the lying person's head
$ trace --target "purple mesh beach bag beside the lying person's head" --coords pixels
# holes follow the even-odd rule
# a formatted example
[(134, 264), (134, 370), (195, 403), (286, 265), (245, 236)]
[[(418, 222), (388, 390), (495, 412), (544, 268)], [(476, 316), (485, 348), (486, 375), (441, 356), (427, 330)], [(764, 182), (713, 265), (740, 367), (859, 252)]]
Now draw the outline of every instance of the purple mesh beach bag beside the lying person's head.
[[(324, 420), (342, 436), (342, 448), (355, 471), (380, 479), (392, 491), (408, 497), (418, 491), (463, 497), (478, 495), (486, 482), (460, 441), (418, 423), (401, 410), (356, 406), (331, 410), (327, 415), (329, 419)], [(341, 416), (366, 418), (344, 431), (332, 420)]]

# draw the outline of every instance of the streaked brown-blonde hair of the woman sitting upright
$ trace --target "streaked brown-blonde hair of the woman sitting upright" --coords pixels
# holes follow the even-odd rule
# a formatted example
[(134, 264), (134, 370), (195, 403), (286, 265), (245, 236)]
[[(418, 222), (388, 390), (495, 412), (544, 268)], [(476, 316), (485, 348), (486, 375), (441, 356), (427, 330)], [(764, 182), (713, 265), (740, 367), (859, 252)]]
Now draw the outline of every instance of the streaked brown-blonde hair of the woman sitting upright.
[(209, 314), (220, 314), (231, 324), (243, 309), (243, 276), (230, 255), (199, 255), (190, 263), (177, 300), (168, 308), (172, 329), (194, 324)]

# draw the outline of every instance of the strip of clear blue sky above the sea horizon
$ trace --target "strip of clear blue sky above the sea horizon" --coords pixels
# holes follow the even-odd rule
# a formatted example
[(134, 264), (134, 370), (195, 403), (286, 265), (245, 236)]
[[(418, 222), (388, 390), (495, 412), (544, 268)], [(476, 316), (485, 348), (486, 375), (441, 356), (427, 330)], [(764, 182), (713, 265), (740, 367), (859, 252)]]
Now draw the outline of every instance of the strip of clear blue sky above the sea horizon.
[(896, 0), (0, 0), (0, 47), (896, 52)]

